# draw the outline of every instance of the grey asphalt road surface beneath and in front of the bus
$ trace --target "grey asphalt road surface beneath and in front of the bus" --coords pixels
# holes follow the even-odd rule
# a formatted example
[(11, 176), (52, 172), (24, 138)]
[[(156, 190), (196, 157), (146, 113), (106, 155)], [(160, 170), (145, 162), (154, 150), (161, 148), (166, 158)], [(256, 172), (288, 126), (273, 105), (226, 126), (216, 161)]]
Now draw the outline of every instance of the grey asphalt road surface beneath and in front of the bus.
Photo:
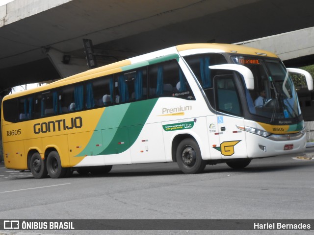
[[(298, 156), (302, 158), (295, 159)], [(0, 163), (0, 219), (314, 219), (312, 157), (313, 147), (304, 154), (255, 159), (241, 170), (217, 164), (208, 165), (201, 174), (185, 175), (175, 163), (134, 164), (113, 166), (105, 176), (74, 172), (72, 177), (63, 179), (34, 179), (30, 171), (9, 170)], [(158, 234), (176, 234), (168, 232)], [(304, 231), (293, 234), (298, 232)], [(16, 233), (33, 234), (13, 234)], [(313, 230), (307, 233), (313, 234)]]

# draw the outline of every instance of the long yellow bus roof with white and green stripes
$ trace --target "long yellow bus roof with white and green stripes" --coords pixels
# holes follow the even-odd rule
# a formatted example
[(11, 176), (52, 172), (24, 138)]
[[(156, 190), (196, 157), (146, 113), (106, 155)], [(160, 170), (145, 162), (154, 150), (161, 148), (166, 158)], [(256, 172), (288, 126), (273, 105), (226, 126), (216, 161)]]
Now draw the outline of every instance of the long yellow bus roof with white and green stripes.
[[(125, 70), (129, 70), (132, 68), (138, 68), (142, 66), (146, 66), (149, 64), (156, 63), (157, 61), (166, 61), (168, 59), (179, 58), (179, 53), (185, 51), (185, 54), (188, 54), (191, 50), (191, 54), (193, 54), (193, 50), (195, 49), (213, 49), (215, 51), (219, 51), (220, 53), (236, 53), (236, 54), (248, 54), (248, 55), (264, 55), (278, 58), (278, 56), (272, 52), (253, 48), (253, 47), (244, 47), (239, 45), (231, 45), (231, 44), (216, 44), (216, 43), (199, 43), (199, 44), (184, 44), (175, 47), (168, 47), (165, 49), (157, 50), (154, 52), (150, 52), (147, 54), (139, 55), (136, 57), (132, 57), (130, 59), (122, 60), (119, 62), (115, 62), (109, 65), (105, 65), (99, 68), (95, 68), (92, 70), (87, 70), (70, 77), (66, 77), (60, 79), (58, 81), (52, 82), (45, 86), (40, 86), (37, 88), (29, 89), (22, 92), (17, 92), (14, 94), (6, 95), (3, 100), (7, 98), (19, 97), (22, 95), (32, 94), (34, 92), (41, 92), (47, 89), (52, 89), (54, 86), (63, 86), (71, 84), (73, 79), (76, 79), (76, 82), (88, 80), (94, 77), (105, 76)], [(199, 52), (198, 52), (199, 53)]]

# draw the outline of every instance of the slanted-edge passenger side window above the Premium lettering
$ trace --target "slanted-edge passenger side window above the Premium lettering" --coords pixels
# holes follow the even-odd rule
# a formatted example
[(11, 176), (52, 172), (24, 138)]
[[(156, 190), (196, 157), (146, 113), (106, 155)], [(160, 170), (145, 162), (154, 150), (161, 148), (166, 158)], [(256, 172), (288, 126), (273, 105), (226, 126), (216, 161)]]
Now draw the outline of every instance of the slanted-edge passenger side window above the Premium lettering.
[(195, 99), (176, 60), (149, 66), (149, 97)]

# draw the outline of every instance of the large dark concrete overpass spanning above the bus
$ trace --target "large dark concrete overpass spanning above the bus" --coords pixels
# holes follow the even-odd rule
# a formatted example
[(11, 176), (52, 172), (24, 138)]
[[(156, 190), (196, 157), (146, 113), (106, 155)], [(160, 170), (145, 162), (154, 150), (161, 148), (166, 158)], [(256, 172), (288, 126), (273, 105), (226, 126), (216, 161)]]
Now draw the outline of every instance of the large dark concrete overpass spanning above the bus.
[[(100, 65), (178, 44), (245, 42), (304, 28), (287, 48), (312, 48), (313, 9), (309, 0), (14, 0), (0, 6), (0, 87), (87, 70), (83, 38), (93, 41)], [(269, 50), (280, 52), (286, 40), (267, 41), (276, 45)], [(63, 55), (71, 55), (68, 64)]]

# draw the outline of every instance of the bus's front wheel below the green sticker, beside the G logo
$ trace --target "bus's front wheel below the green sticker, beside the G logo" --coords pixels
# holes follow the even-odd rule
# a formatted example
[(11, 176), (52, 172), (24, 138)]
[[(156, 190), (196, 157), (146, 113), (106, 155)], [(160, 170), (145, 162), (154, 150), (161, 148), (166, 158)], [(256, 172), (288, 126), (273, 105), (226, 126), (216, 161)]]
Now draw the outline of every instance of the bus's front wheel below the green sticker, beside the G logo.
[(202, 159), (200, 147), (192, 138), (184, 139), (179, 143), (176, 159), (179, 168), (185, 174), (201, 173), (207, 164)]

